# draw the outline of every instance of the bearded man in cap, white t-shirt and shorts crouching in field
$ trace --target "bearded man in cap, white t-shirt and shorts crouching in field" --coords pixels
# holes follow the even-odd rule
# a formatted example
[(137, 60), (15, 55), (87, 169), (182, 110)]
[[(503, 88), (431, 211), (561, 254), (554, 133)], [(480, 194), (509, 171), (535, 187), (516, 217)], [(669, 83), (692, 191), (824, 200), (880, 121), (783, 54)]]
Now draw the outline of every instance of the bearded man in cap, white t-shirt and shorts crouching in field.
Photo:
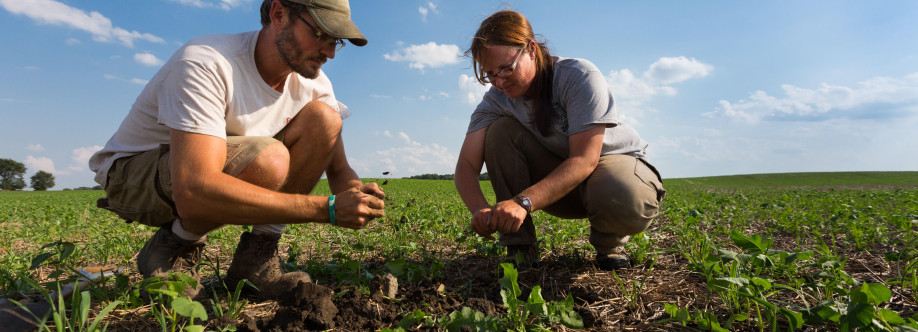
[[(281, 267), (285, 224), (360, 229), (384, 215), (382, 189), (361, 183), (348, 164), (341, 125), (350, 112), (320, 69), (343, 39), (367, 43), (347, 0), (265, 0), (261, 23), (180, 48), (89, 161), (107, 195), (99, 207), (159, 227), (137, 255), (144, 278), (199, 278), (207, 233), (254, 225), (227, 277), (276, 296), (311, 282)], [(335, 195), (307, 195), (323, 172)]]

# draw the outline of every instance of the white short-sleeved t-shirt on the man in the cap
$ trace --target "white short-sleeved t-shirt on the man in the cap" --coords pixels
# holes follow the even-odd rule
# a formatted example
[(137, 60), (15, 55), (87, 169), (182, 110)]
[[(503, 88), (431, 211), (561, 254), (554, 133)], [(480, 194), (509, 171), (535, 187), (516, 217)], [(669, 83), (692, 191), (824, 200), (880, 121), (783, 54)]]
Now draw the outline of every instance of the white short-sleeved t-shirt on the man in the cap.
[(258, 31), (208, 35), (182, 46), (147, 83), (105, 147), (89, 159), (96, 182), (105, 187), (116, 159), (169, 144), (170, 129), (224, 140), (272, 137), (314, 100), (327, 103), (342, 119), (350, 115), (321, 70), (315, 79), (291, 73), (283, 92), (271, 88), (255, 67), (257, 39)]

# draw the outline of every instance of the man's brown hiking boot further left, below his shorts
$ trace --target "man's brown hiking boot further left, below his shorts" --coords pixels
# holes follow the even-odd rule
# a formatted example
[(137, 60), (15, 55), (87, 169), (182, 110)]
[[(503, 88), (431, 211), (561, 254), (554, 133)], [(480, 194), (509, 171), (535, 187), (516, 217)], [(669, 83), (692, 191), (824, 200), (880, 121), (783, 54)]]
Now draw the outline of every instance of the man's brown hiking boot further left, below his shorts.
[(204, 286), (197, 270), (201, 261), (201, 252), (204, 250), (205, 238), (198, 241), (188, 241), (172, 233), (172, 224), (165, 224), (153, 234), (137, 254), (137, 270), (144, 279), (160, 277), (169, 279), (169, 272), (184, 273), (198, 281), (192, 288), (185, 288), (185, 295), (195, 298), (201, 295)]

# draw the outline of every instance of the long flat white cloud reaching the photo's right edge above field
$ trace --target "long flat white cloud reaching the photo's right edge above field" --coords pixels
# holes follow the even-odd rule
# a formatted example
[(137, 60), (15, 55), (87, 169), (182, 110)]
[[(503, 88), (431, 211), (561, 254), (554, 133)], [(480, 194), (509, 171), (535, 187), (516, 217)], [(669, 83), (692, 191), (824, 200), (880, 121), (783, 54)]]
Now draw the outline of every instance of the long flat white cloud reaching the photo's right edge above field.
[(902, 79), (875, 77), (845, 87), (822, 83), (806, 89), (781, 86), (785, 97), (753, 92), (737, 102), (721, 100), (708, 117), (755, 124), (764, 120), (828, 120), (833, 118), (897, 118), (918, 112), (918, 73)]

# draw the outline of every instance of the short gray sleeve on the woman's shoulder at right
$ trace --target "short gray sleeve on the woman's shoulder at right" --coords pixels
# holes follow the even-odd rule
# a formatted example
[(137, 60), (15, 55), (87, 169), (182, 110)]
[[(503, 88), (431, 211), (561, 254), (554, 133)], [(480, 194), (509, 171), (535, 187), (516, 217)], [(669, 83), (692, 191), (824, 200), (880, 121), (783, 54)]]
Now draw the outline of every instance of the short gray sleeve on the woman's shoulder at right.
[(566, 68), (559, 82), (558, 101), (567, 113), (568, 135), (597, 124), (618, 125), (612, 89), (602, 73), (590, 62), (581, 60), (578, 66)]

